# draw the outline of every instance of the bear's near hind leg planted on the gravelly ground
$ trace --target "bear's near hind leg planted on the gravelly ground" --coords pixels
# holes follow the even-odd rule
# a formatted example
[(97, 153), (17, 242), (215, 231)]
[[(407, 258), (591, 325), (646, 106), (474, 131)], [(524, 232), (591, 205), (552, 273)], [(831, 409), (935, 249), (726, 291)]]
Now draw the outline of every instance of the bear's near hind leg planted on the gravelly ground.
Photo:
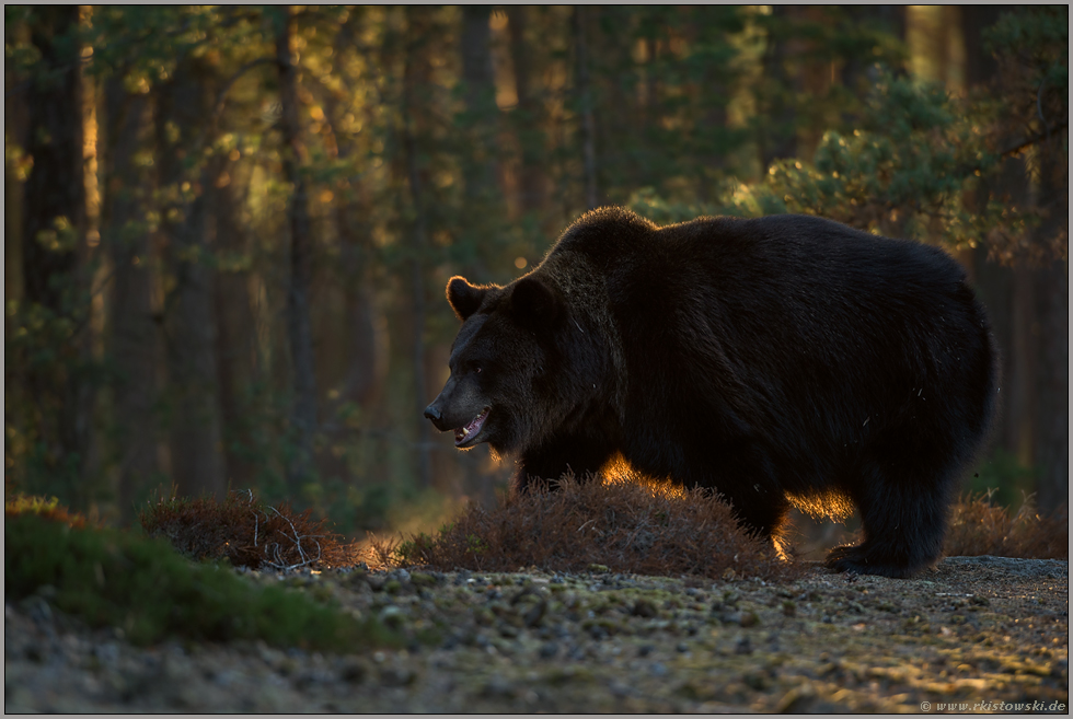
[[(904, 456), (904, 451), (902, 452)], [(827, 565), (838, 571), (907, 578), (933, 564), (943, 550), (956, 466), (936, 468), (874, 461), (850, 488), (864, 542), (832, 549)]]

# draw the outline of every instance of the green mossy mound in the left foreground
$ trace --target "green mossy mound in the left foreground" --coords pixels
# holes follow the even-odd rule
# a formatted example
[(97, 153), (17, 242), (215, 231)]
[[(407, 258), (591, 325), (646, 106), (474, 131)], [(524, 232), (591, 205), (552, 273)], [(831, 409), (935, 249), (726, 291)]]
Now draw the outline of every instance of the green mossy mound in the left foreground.
[(4, 522), (4, 582), (8, 599), (42, 593), (90, 626), (120, 627), (138, 645), (263, 639), (353, 651), (396, 641), (373, 617), (356, 618), (280, 587), (258, 587), (223, 565), (192, 564), (162, 540), (76, 530), (34, 514)]

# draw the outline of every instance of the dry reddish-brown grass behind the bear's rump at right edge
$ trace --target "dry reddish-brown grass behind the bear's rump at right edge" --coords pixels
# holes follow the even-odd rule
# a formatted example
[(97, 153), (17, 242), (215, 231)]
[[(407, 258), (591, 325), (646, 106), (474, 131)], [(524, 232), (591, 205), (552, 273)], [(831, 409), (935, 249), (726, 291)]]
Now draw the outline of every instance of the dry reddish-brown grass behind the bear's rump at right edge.
[(1069, 559), (1069, 508), (1062, 505), (1041, 517), (1031, 497), (1011, 517), (1007, 509), (991, 503), (991, 494), (962, 497), (950, 517), (944, 552), (947, 556)]

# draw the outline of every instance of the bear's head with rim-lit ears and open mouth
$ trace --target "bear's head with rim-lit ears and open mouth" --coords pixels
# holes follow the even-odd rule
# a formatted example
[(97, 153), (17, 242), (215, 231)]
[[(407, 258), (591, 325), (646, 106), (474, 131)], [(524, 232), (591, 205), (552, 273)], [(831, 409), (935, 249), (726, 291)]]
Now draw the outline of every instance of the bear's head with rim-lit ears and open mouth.
[(488, 442), (498, 454), (517, 451), (551, 419), (542, 408), (554, 392), (549, 378), (558, 363), (565, 306), (533, 275), (505, 287), (453, 277), (447, 299), (462, 326), (451, 346), (451, 375), (425, 417), (440, 431), (453, 430), (460, 449)]

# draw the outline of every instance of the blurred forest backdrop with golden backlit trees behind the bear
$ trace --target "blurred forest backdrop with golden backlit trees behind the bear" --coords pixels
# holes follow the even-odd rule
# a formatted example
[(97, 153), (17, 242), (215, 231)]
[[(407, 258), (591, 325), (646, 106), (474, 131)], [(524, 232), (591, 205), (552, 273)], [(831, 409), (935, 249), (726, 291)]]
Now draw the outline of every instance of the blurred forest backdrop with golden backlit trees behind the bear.
[[(967, 488), (1069, 482), (1068, 7), (4, 8), (4, 478), (350, 534), (491, 503), (422, 408), (448, 278), (581, 212), (941, 244), (1004, 358)], [(412, 526), (412, 524), (409, 524)]]

